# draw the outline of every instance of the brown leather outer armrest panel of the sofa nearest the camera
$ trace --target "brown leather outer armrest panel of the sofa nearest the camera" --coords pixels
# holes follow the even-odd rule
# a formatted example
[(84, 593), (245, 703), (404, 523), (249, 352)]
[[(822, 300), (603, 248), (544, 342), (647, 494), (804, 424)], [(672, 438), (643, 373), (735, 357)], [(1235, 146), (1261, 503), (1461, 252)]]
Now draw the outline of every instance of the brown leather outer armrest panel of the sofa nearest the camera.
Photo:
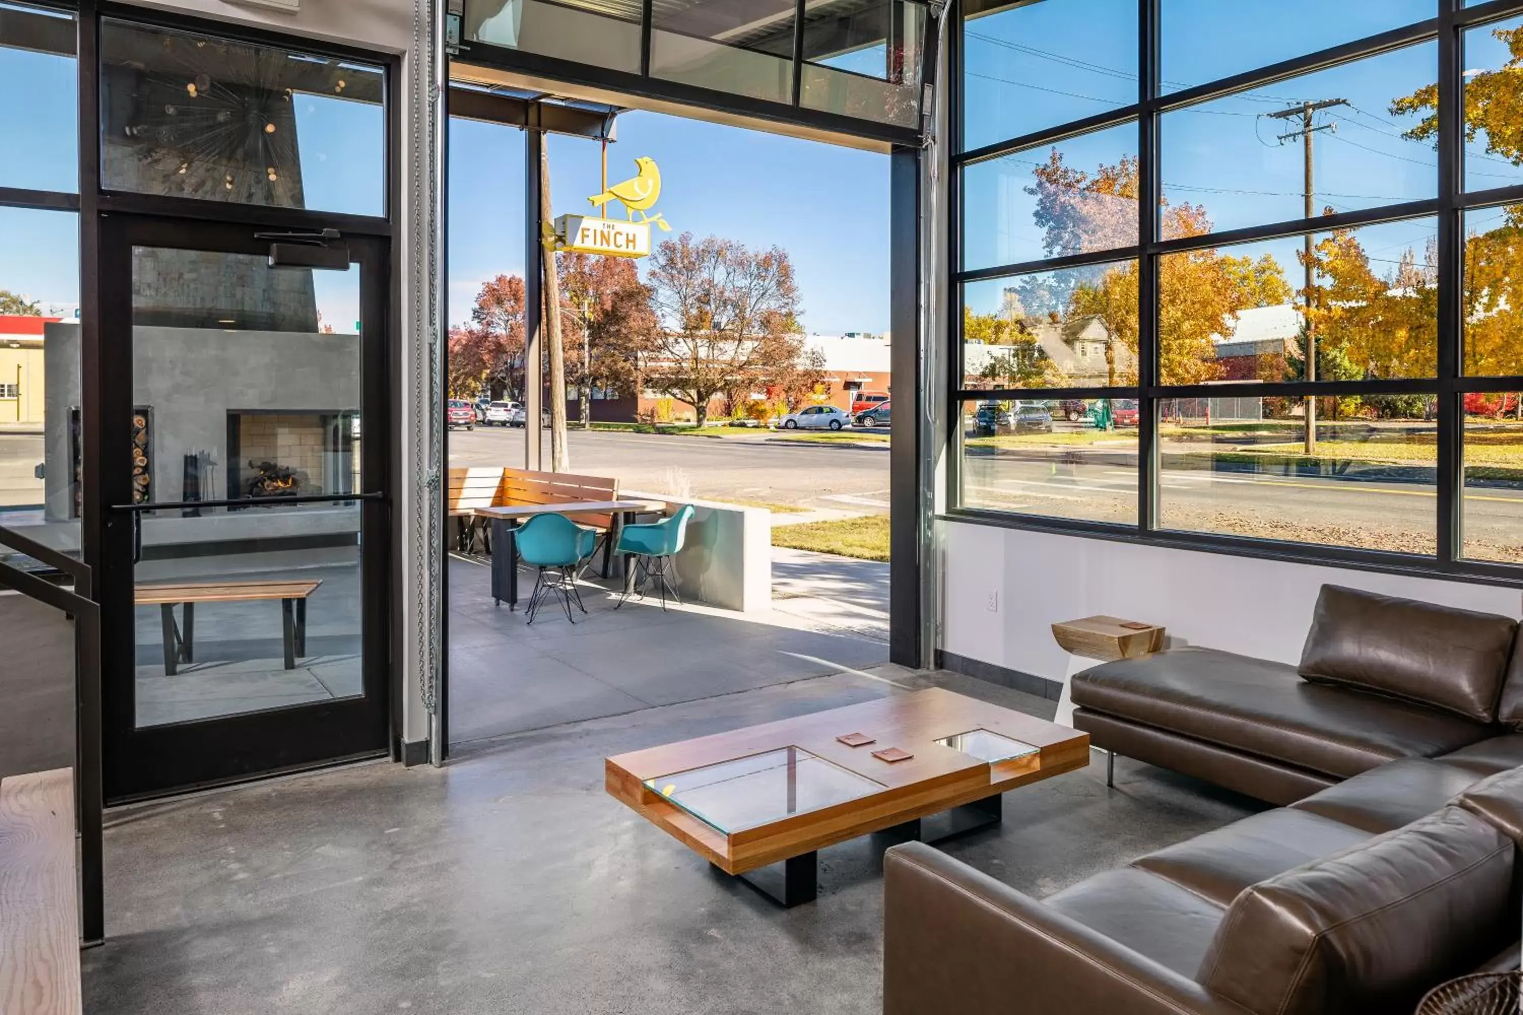
[(883, 1015), (1246, 1015), (1194, 980), (920, 843), (883, 857)]

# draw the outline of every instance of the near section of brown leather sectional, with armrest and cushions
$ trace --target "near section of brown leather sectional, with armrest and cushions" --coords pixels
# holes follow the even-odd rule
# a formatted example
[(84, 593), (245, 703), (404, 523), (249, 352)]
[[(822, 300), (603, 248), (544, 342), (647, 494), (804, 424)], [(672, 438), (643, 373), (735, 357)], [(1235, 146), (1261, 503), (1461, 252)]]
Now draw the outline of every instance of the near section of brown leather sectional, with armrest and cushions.
[(1459, 755), (1387, 762), (1043, 901), (896, 846), (883, 1012), (1410, 1015), (1518, 957), (1523, 768)]

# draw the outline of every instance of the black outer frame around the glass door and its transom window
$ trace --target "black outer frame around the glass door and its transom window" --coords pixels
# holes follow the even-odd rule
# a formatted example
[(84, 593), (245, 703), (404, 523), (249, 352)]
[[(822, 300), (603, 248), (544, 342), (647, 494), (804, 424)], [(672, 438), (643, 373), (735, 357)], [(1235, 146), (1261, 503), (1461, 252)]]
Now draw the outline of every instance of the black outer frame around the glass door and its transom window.
[[(67, 6), (67, 5), (65, 5)], [(81, 542), (85, 563), (99, 575), (97, 589), (110, 589), (108, 581), (116, 581), (117, 597), (122, 587), (131, 587), (131, 568), (125, 575), (111, 575), (113, 548), (126, 539), (131, 543), (129, 525), (123, 536), (123, 517), (108, 508), (125, 504), (122, 492), (107, 488), (108, 476), (114, 467), (111, 458), (111, 434), (105, 429), (104, 408), (111, 394), (116, 376), (111, 373), (113, 356), (122, 350), (110, 348), (110, 341), (102, 335), (102, 301), (107, 295), (105, 265), (102, 260), (102, 231), (107, 228), (108, 216), (168, 216), (189, 222), (224, 222), (244, 227), (260, 227), (265, 230), (309, 230), (321, 227), (338, 228), (346, 237), (370, 237), (387, 247), (384, 254), (384, 321), (387, 344), (385, 406), (384, 425), (370, 423), (367, 432), (372, 443), (384, 444), (384, 472), (372, 473), (381, 479), (381, 487), (393, 498), (393, 511), (401, 496), (398, 482), (402, 476), (401, 434), (396, 429), (394, 408), (402, 403), (402, 352), (399, 335), (402, 333), (402, 292), (399, 280), (404, 278), (404, 251), (399, 242), (401, 230), (396, 225), (402, 213), (402, 172), (399, 166), (402, 129), (402, 58), (393, 53), (381, 53), (358, 47), (330, 44), (321, 40), (286, 35), (253, 29), (227, 21), (207, 20), (200, 17), (172, 14), (157, 9), (114, 3), (113, 0), (79, 0), (75, 5), (78, 15), (78, 73), (79, 73), (79, 341), (81, 341), (81, 425), (82, 425), (82, 487), (84, 508), (81, 517)], [(187, 198), (171, 198), (146, 193), (108, 192), (102, 187), (101, 178), (101, 64), (99, 37), (101, 18), (110, 17), (137, 24), (148, 24), (166, 29), (181, 29), (203, 32), (221, 38), (280, 46), (299, 52), (334, 56), (340, 59), (355, 59), (372, 65), (384, 67), (385, 82), (385, 198), (387, 207), (382, 216), (352, 216), (309, 212), (305, 208), (273, 208), (238, 205), (221, 201), (201, 201)], [(129, 347), (126, 352), (131, 358)], [(376, 435), (384, 435), (384, 441), (376, 441)], [(369, 461), (369, 460), (367, 460)], [(369, 479), (367, 479), (369, 482)], [(387, 519), (384, 542), (390, 546), (391, 568), (379, 584), (388, 595), (388, 610), (385, 613), (385, 628), (388, 642), (384, 657), (388, 667), (388, 692), (385, 698), (387, 747), (393, 761), (401, 759), (401, 743), (404, 730), (405, 689), (402, 680), (404, 630), (401, 621), (402, 610), (402, 568), (404, 545), (401, 525), (393, 517)], [(131, 560), (131, 557), (128, 557)], [(378, 577), (379, 578), (379, 577)], [(122, 583), (126, 583), (125, 586)], [(102, 600), (104, 601), (104, 600)], [(131, 636), (133, 613), (126, 610), (102, 610), (102, 644), (122, 644), (122, 630)], [(116, 641), (110, 641), (110, 639)], [(105, 668), (114, 665), (111, 653), (107, 653)], [(107, 679), (107, 673), (102, 674)], [(110, 735), (102, 746), (108, 752), (105, 768), (110, 773), (113, 765)], [(334, 759), (338, 761), (338, 759)], [(268, 775), (268, 773), (260, 773)], [(254, 778), (250, 775), (248, 778)], [(123, 799), (110, 776), (107, 779), (107, 799), (120, 802)]]

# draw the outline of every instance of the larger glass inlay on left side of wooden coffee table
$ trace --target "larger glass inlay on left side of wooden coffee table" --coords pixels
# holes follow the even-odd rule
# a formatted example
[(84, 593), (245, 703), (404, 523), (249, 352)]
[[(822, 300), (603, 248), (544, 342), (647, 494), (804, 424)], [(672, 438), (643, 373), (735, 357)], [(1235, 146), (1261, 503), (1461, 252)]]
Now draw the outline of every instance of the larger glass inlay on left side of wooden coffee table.
[(877, 793), (882, 784), (801, 747), (646, 779), (646, 787), (726, 835)]

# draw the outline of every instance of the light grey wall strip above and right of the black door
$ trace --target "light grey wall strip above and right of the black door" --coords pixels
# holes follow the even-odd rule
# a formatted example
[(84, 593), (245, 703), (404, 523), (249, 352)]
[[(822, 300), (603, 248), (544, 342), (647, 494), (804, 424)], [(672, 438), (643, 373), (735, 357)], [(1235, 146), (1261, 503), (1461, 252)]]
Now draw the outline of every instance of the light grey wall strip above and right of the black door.
[[(426, 219), (423, 207), (414, 201), (416, 181), (422, 175), (423, 187), (419, 193), (431, 195), (436, 190), (428, 177), (426, 151), (414, 152), (414, 137), (426, 138), (426, 119), (429, 107), (419, 100), (426, 94), (426, 47), (429, 41), (429, 8), (426, 0), (302, 0), (297, 14), (286, 14), (270, 8), (251, 8), (222, 0), (129, 0), (143, 8), (172, 11), (193, 17), (247, 24), (283, 32), (297, 38), (323, 40), (359, 49), (375, 50), (402, 56), (402, 129), (396, 138), (399, 151), (394, 152), (394, 166), (401, 173), (402, 207), (393, 208), (391, 219), (398, 224), (398, 234), (393, 239), (396, 251), (402, 257), (402, 278), (396, 282), (402, 291), (401, 313), (393, 321), (393, 335), (399, 336), (402, 364), (404, 393), (401, 403), (393, 412), (393, 428), (402, 434), (404, 475), (398, 478), (393, 517), (398, 519), (401, 533), (399, 545), (402, 555), (394, 565), (402, 574), (404, 615), (401, 618), (404, 635), (404, 738), (420, 741), (428, 738), (429, 723), (423, 708), (423, 671), (437, 671), (439, 654), (426, 647), (426, 636), (420, 627), (419, 613), (426, 613), (429, 603), (429, 584), (433, 583), (428, 560), (422, 555), (429, 540), (420, 534), (420, 517), (437, 513), (433, 507), (433, 495), (426, 487), (426, 476), (413, 475), (410, 466), (414, 458), (416, 444), (420, 435), (429, 432), (434, 409), (428, 402), (428, 356), (419, 355), (426, 347), (428, 336), (420, 333), (414, 320), (419, 306), (426, 304), (426, 245), (419, 242), (420, 234), (426, 234)], [(442, 0), (436, 0), (442, 3)], [(422, 17), (419, 21), (417, 18)], [(414, 75), (422, 73), (423, 82), (414, 81)], [(423, 84), (422, 90), (417, 85)], [(426, 140), (425, 140), (426, 145)], [(417, 158), (414, 158), (414, 154)], [(431, 199), (431, 198), (429, 198)], [(422, 204), (426, 205), (429, 199)], [(419, 514), (419, 499), (425, 499), (428, 507)], [(439, 603), (439, 589), (433, 590), (433, 601)], [(437, 630), (437, 618), (431, 619), (433, 630)]]

